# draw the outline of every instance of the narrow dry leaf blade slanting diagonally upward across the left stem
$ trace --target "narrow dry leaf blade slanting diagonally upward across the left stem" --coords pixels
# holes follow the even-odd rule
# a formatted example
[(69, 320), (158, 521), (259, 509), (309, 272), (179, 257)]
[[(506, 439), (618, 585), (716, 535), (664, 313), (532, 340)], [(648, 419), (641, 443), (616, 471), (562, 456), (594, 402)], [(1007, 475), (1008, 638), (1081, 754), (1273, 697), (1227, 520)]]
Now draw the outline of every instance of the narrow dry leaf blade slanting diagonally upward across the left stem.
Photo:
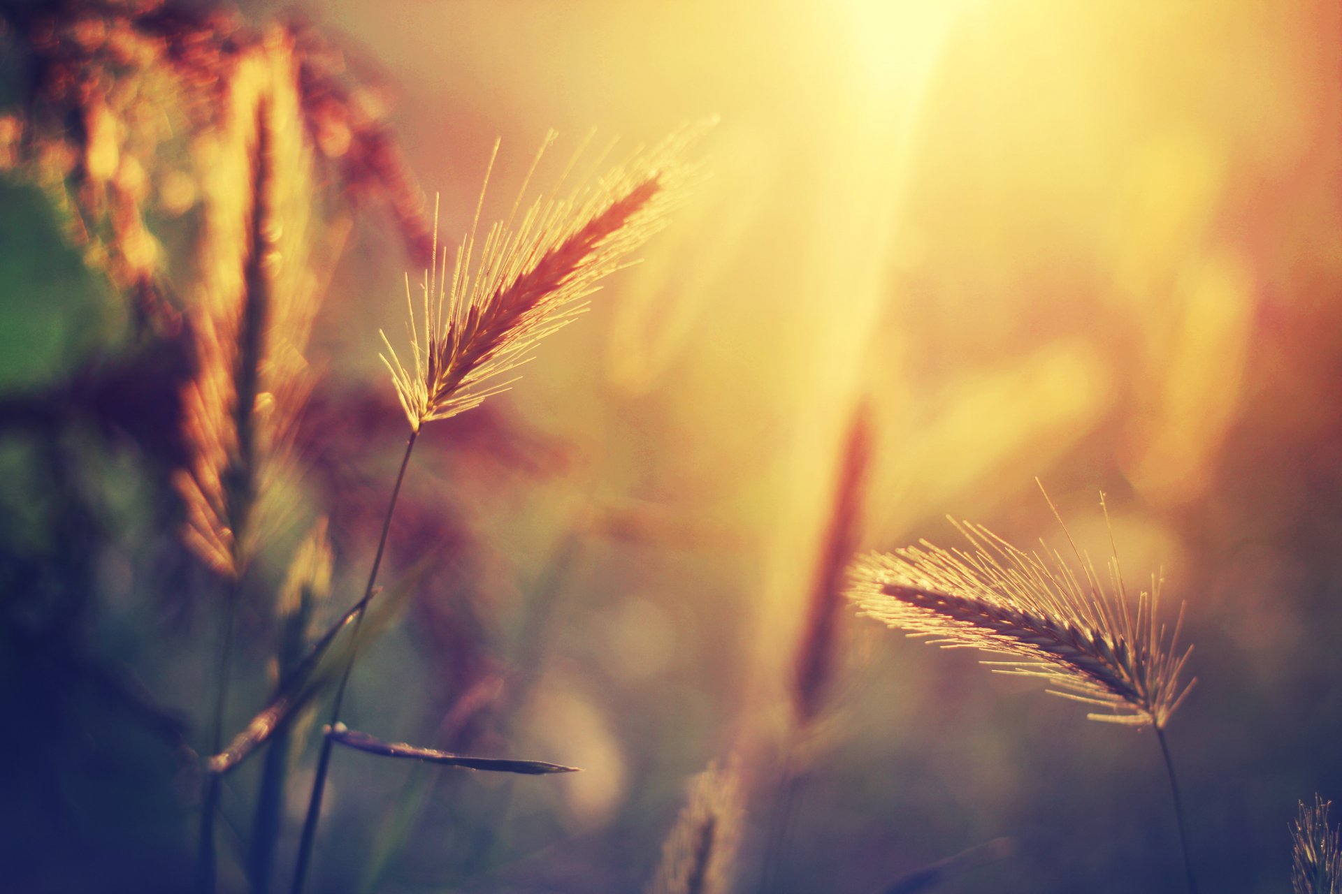
[[(424, 556), (420, 559), (384, 598), (378, 599), (376, 609), (369, 610), (364, 629), (358, 634), (360, 639), (376, 635), (395, 621), (404, 607), (407, 598), (419, 588), (420, 578), (428, 570), (431, 558)], [(345, 638), (337, 649), (331, 646), (346, 627), (353, 626), (360, 613), (368, 607), (368, 603), (378, 592), (381, 592), (380, 588), (354, 603), (349, 611), (341, 615), (340, 621), (331, 625), (330, 630), (322, 634), (321, 639), (313, 643), (313, 647), (307, 650), (307, 654), (298, 662), (294, 672), (279, 685), (270, 704), (252, 717), (251, 722), (240, 733), (234, 736), (232, 741), (228, 743), (228, 748), (205, 761), (205, 768), (211, 773), (223, 775), (232, 771), (258, 748), (264, 745), (276, 732), (283, 729), (303, 705), (322, 693), (327, 686), (334, 685), (340, 677), (345, 657), (354, 647), (354, 638)]]

